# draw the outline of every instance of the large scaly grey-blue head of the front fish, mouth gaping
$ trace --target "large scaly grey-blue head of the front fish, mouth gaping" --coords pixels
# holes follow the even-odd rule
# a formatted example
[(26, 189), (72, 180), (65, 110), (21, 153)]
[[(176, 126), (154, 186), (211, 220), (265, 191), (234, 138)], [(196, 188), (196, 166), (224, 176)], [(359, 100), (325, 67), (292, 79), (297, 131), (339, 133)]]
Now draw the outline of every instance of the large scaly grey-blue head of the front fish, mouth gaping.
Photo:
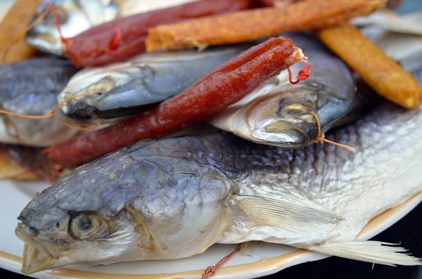
[[(141, 141), (35, 195), (15, 229), (25, 242), (22, 271), (203, 252), (229, 222), (222, 212), (234, 184), (201, 161), (214, 162), (203, 156), (211, 145), (196, 136)], [(195, 152), (199, 162), (188, 159)]]

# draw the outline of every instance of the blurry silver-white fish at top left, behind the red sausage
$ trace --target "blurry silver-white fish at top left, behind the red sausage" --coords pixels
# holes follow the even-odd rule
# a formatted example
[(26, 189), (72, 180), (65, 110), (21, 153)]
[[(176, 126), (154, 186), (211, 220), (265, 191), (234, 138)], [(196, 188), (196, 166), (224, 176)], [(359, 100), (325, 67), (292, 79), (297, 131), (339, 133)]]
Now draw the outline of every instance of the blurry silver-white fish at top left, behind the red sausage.
[[(113, 1), (107, 4), (101, 0), (44, 0), (32, 22), (38, 20), (41, 13), (46, 11), (46, 2), (50, 2), (56, 10), (60, 30), (65, 38), (75, 37), (90, 27), (113, 20), (120, 13)], [(26, 41), (41, 51), (58, 56), (63, 54), (63, 45), (52, 13), (27, 32)]]

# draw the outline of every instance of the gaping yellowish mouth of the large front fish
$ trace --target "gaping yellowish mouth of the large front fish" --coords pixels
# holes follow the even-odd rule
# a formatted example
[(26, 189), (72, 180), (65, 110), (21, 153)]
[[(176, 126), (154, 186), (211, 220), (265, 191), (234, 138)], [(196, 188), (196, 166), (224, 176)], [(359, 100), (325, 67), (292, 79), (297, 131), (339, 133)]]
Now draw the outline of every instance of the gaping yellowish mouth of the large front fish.
[(15, 235), (25, 242), (21, 269), (23, 273), (32, 274), (44, 271), (56, 261), (55, 257), (41, 243), (34, 240), (34, 234), (30, 232), (30, 227), (19, 223), (15, 229)]

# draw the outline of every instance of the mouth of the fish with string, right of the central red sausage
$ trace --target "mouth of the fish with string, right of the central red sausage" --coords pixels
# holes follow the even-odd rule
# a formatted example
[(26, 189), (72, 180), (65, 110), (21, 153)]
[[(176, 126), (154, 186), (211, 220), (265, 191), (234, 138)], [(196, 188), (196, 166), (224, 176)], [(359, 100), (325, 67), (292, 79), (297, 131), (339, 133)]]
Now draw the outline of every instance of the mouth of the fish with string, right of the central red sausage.
[(276, 145), (281, 148), (303, 148), (309, 144), (305, 134), (282, 121), (276, 121), (264, 125), (261, 129), (256, 129), (252, 132), (250, 138), (260, 143)]

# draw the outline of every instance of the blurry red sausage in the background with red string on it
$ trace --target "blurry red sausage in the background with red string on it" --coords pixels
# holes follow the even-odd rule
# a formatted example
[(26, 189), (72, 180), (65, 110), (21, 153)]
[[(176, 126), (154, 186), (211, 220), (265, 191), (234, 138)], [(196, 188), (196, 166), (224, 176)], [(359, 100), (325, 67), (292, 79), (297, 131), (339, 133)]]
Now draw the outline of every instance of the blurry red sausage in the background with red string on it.
[(145, 51), (145, 40), (151, 27), (240, 11), (249, 8), (251, 3), (251, 0), (202, 0), (117, 18), (63, 39), (64, 53), (76, 67), (117, 62)]

